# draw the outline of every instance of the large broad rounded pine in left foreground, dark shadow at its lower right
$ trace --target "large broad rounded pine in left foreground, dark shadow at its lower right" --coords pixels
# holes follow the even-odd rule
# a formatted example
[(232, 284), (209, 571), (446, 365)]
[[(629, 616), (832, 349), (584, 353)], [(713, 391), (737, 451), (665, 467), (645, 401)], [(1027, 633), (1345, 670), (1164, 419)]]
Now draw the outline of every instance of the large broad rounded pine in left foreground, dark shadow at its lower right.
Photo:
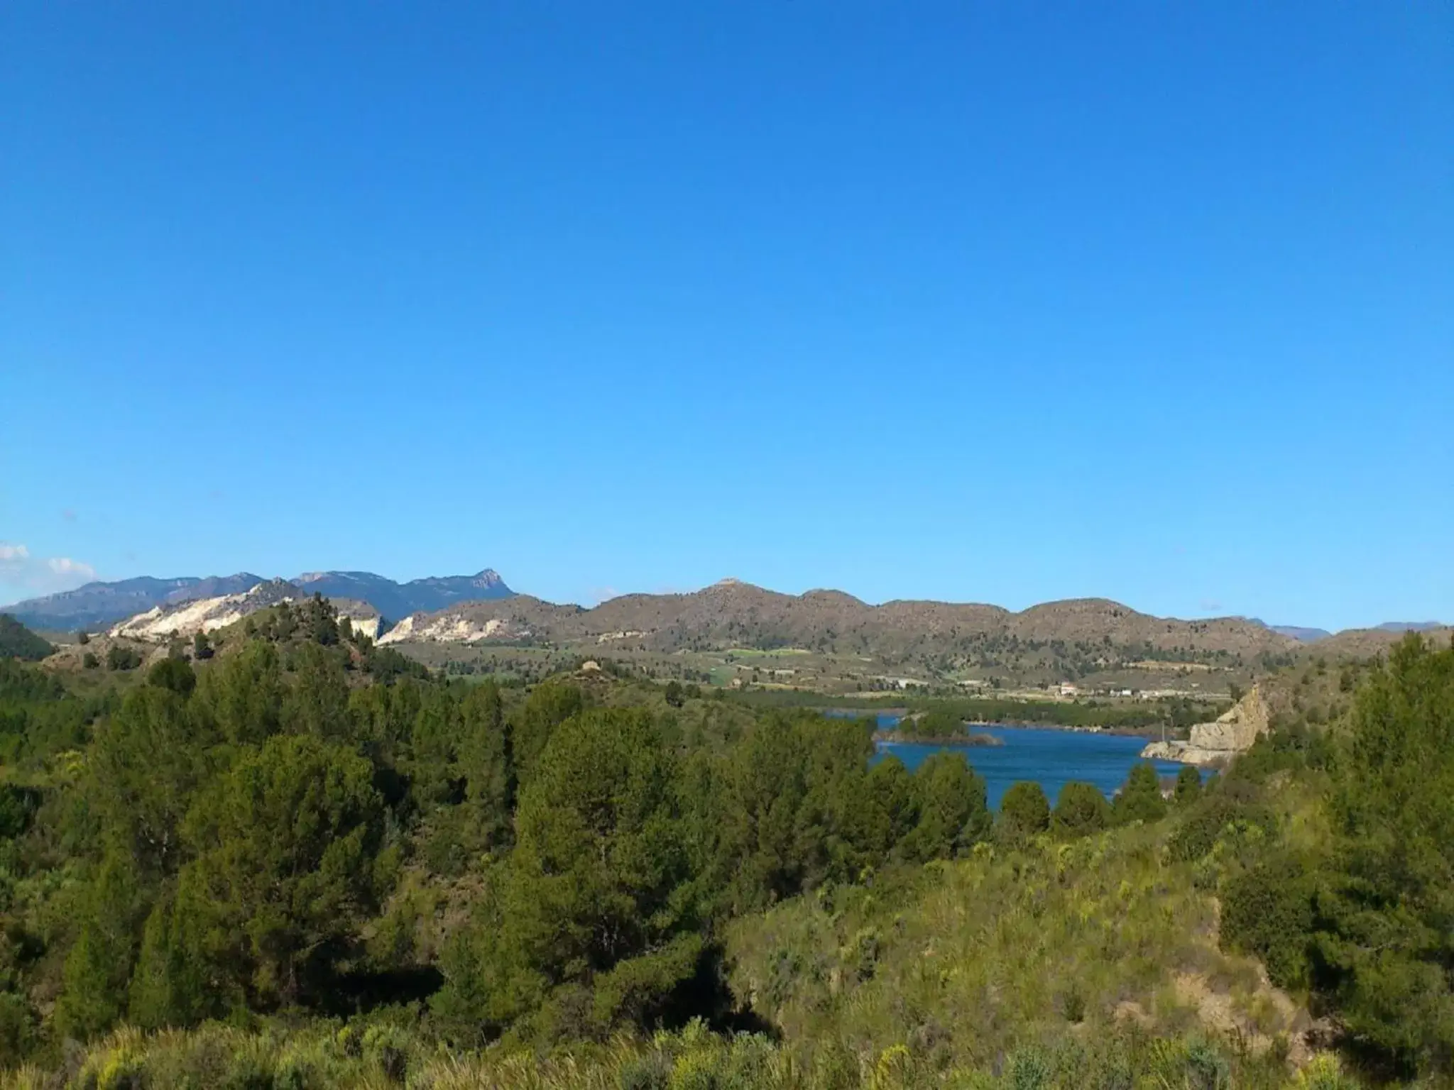
[(278, 735), (189, 815), (202, 945), (256, 1003), (316, 994), (374, 911), (384, 814), (372, 778), (343, 746)]

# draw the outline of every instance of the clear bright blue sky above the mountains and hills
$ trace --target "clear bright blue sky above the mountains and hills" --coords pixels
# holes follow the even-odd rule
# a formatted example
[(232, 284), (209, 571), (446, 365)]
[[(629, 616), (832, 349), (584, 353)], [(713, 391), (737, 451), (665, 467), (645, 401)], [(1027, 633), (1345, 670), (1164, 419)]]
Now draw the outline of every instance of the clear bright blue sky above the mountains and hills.
[(1451, 118), (1442, 0), (15, 0), (0, 600), (1454, 621)]

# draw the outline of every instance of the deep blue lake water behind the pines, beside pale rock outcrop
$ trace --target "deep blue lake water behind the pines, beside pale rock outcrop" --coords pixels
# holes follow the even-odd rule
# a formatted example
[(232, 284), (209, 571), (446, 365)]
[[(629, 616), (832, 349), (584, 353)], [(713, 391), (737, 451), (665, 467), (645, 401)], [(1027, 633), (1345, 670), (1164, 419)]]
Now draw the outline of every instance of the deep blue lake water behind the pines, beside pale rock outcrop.
[[(893, 716), (880, 716), (880, 725), (887, 728)], [(1057, 731), (1037, 727), (973, 727), (971, 732), (993, 734), (1002, 746), (935, 746), (919, 743), (885, 741), (878, 744), (883, 760), (894, 756), (912, 772), (923, 764), (931, 753), (957, 750), (984, 778), (989, 788), (990, 810), (999, 810), (999, 801), (1011, 783), (1022, 779), (1038, 780), (1045, 789), (1050, 804), (1056, 804), (1069, 780), (1077, 779), (1095, 783), (1106, 798), (1125, 783), (1131, 766), (1140, 762), (1146, 738), (1127, 734), (1090, 734), (1080, 731)], [(1181, 764), (1175, 762), (1153, 762), (1157, 773), (1175, 776)]]

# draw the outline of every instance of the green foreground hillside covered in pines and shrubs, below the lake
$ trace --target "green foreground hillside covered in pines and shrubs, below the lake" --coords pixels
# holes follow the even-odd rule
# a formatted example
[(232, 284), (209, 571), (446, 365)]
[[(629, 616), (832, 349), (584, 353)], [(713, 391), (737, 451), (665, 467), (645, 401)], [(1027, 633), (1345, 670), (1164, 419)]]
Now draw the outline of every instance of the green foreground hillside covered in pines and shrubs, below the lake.
[(963, 753), (869, 764), (868, 721), (609, 670), (446, 680), (323, 599), (150, 667), (4, 660), (0, 1062), (96, 1087), (1447, 1078), (1454, 650), (1410, 637), (1351, 699), (1207, 788), (1138, 766), (1114, 802), (1024, 783), (992, 814)]

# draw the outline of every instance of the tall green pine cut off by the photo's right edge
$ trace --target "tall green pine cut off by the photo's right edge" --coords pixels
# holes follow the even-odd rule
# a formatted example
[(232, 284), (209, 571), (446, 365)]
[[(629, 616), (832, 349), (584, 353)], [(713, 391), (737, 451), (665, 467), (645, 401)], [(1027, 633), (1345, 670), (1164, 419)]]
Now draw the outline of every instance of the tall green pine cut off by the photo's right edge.
[(1333, 866), (1314, 981), (1405, 1073), (1454, 1071), (1454, 648), (1403, 639), (1355, 698), (1329, 767)]

